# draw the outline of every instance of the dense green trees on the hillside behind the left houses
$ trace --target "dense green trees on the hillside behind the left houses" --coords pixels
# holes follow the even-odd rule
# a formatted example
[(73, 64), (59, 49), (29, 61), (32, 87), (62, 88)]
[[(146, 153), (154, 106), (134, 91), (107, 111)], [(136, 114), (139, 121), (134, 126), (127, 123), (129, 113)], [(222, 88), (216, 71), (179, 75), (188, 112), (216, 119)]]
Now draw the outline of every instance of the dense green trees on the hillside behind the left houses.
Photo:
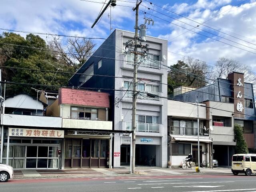
[[(42, 49), (47, 48), (46, 42), (40, 38), (40, 36), (34, 34), (28, 34), (26, 38), (24, 38), (18, 34), (5, 32), (0, 36), (0, 42)], [(62, 74), (58, 72), (76, 71), (74, 66), (67, 66), (66, 64), (60, 63), (51, 51), (10, 46), (7, 44), (0, 44), (0, 64), (2, 66), (15, 67), (10, 69), (2, 68), (2, 80), (18, 83), (66, 86), (72, 74)], [(34, 70), (17, 68), (30, 68)], [(54, 72), (43, 72), (40, 70), (50, 70)], [(45, 89), (46, 87), (34, 88)], [(58, 88), (49, 87), (48, 89), (58, 90)], [(27, 85), (9, 84), (6, 86), (7, 96), (20, 92), (26, 92), (32, 95), (36, 93), (31, 91), (31, 86)]]

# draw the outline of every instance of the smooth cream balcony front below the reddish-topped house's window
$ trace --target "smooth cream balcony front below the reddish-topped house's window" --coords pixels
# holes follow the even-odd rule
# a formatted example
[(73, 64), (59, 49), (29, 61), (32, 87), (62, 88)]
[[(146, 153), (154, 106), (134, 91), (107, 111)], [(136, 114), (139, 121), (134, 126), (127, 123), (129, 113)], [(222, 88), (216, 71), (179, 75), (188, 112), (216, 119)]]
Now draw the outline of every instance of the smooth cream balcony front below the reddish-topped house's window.
[(94, 129), (94, 130), (112, 130), (112, 121), (100, 121), (84, 119), (62, 119), (63, 128), (74, 129)]

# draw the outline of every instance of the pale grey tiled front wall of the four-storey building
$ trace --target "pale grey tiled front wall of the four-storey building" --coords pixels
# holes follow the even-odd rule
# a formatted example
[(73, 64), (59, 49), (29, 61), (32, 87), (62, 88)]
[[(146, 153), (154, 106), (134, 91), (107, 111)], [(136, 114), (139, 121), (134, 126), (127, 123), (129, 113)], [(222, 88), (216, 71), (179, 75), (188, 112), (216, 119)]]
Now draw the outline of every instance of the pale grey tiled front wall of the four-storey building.
[[(116, 30), (116, 48), (122, 49), (123, 44), (132, 39), (134, 37), (134, 33), (126, 32), (122, 30)], [(122, 38), (124, 36), (124, 38)], [(167, 56), (167, 41), (147, 37), (147, 42), (143, 43), (150, 44), (151, 54), (160, 55), (161, 64), (167, 66), (167, 60), (163, 60), (163, 55)], [(122, 68), (124, 66), (125, 55), (122, 53), (116, 52), (116, 66), (115, 66), (115, 76), (118, 77), (133, 77), (133, 67), (128, 66), (126, 68)], [(149, 80), (158, 81), (157, 82), (146, 82), (148, 84), (159, 85), (159, 89), (161, 96), (167, 97), (167, 70), (166, 67), (161, 66), (161, 69), (154, 68), (146, 68), (140, 66), (138, 68), (138, 78), (147, 78)], [(122, 81), (125, 79), (115, 78), (115, 89), (122, 88)], [(126, 81), (126, 80), (125, 80)], [(129, 80), (127, 80), (129, 81)], [(163, 83), (163, 84), (160, 84)], [(122, 96), (122, 94), (121, 94)], [(125, 96), (124, 96), (125, 97)], [(121, 99), (120, 91), (115, 92), (115, 98)], [(114, 129), (122, 130), (124, 122), (131, 122), (131, 114), (132, 114), (132, 103), (131, 99), (122, 98), (122, 102), (119, 102), (118, 108), (115, 108), (114, 113)], [(156, 146), (156, 166), (167, 167), (167, 99), (160, 98), (160, 101), (156, 100), (146, 100), (139, 99), (137, 104), (137, 114), (150, 115), (150, 116), (159, 116), (160, 130), (161, 133), (143, 133), (143, 138), (153, 138), (153, 140), (158, 141), (159, 144), (155, 144)], [(123, 117), (123, 120), (122, 120)], [(122, 122), (123, 121), (123, 122)], [(138, 134), (140, 135), (140, 134)], [(136, 144), (150, 144), (150, 143), (140, 143), (140, 137), (136, 137)], [(120, 152), (121, 145), (121, 137), (115, 136), (114, 138), (114, 152)], [(154, 143), (152, 143), (154, 144)], [(114, 157), (114, 167), (120, 167), (120, 157)]]

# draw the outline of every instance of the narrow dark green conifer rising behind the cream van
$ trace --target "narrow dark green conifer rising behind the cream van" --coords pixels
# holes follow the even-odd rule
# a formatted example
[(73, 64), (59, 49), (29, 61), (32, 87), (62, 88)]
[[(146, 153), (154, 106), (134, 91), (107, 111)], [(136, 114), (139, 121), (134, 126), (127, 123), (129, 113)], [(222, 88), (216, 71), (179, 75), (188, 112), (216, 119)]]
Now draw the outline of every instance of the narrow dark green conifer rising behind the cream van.
[(244, 140), (243, 130), (240, 125), (235, 124), (234, 126), (235, 140), (236, 140), (236, 154), (247, 154), (249, 153)]

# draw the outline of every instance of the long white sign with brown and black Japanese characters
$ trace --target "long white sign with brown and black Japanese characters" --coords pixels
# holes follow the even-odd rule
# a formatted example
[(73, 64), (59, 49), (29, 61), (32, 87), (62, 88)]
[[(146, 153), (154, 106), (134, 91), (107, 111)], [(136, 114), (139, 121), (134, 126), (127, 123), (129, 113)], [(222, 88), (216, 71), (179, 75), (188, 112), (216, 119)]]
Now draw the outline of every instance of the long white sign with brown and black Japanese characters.
[(9, 136), (64, 138), (64, 130), (9, 128)]

